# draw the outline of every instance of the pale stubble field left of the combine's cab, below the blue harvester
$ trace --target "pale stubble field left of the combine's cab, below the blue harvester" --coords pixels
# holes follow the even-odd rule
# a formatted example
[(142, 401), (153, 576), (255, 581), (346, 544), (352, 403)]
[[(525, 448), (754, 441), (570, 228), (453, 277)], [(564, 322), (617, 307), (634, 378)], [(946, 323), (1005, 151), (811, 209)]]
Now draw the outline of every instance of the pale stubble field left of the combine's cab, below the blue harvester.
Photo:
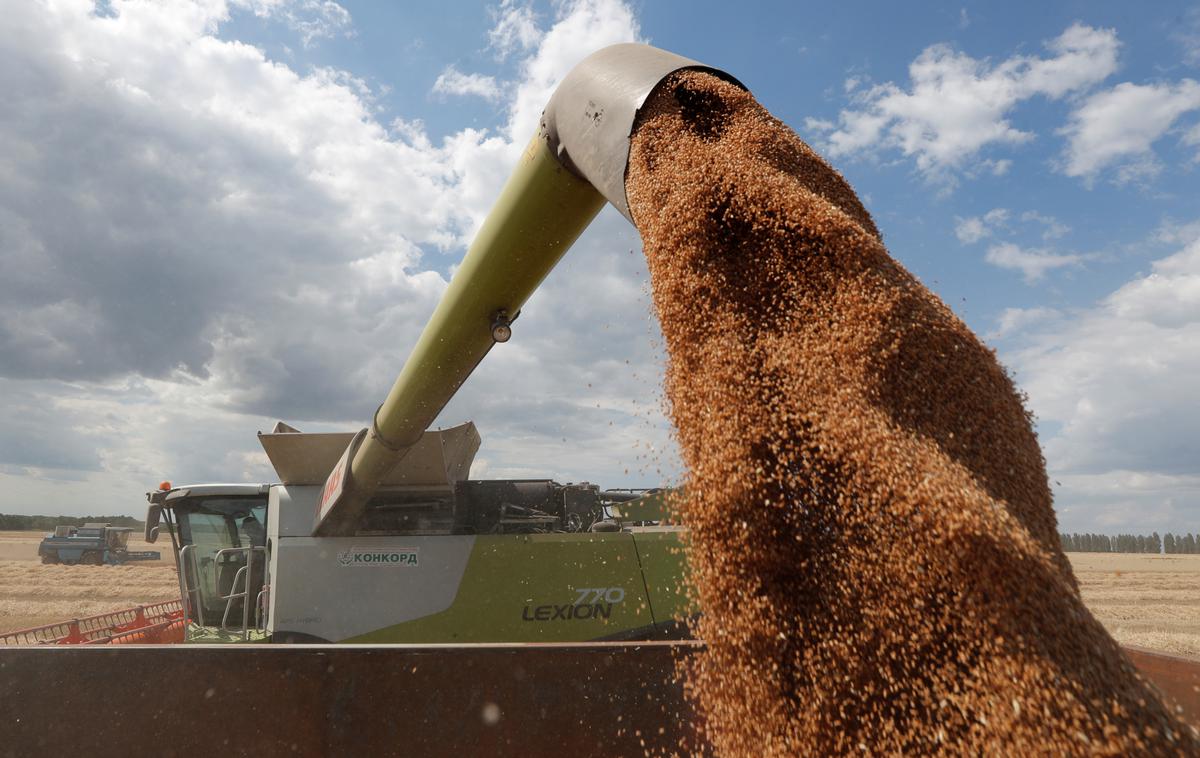
[(179, 597), (170, 542), (146, 545), (130, 539), (130, 549), (160, 551), (164, 560), (43, 566), (37, 558), (43, 536), (41, 531), (0, 531), (0, 632)]

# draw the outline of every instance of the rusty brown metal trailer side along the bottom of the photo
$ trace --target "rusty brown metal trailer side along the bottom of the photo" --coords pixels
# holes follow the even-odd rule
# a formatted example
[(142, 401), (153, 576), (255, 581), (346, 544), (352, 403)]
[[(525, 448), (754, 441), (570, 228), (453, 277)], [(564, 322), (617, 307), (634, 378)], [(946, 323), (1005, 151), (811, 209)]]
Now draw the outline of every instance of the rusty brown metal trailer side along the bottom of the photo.
[[(7, 648), (0, 756), (702, 754), (673, 680), (700, 646)], [(1200, 661), (1127, 652), (1200, 724)]]

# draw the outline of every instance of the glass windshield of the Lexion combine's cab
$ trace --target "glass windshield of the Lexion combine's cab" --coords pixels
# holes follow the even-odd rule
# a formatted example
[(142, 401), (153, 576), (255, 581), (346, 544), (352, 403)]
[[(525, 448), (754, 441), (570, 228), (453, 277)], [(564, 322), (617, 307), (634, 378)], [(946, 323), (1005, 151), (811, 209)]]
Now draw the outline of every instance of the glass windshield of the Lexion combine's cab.
[[(246, 552), (222, 551), (265, 546), (266, 497), (185, 499), (172, 509), (185, 549), (182, 570), (194, 603), (193, 620), (218, 626), (228, 610), (229, 625), (240, 627), (242, 601), (224, 597), (246, 589), (245, 580), (238, 579), (239, 570), (247, 565)], [(262, 589), (264, 563), (259, 553), (248, 572), (251, 602)]]

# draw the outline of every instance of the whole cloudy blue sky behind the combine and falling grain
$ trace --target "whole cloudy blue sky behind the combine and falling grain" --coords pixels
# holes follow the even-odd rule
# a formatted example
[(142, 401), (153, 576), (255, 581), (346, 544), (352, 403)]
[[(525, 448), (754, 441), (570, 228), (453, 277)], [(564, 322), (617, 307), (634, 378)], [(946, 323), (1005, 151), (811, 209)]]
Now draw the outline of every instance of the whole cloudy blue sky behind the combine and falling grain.
[[(270, 481), (277, 419), (364, 426), (554, 84), (643, 41), (746, 83), (997, 349), (1066, 530), (1200, 529), (1194, 4), (0, 11), (0, 512), (138, 513)], [(442, 422), (478, 476), (670, 481), (661, 354), (606, 210)]]

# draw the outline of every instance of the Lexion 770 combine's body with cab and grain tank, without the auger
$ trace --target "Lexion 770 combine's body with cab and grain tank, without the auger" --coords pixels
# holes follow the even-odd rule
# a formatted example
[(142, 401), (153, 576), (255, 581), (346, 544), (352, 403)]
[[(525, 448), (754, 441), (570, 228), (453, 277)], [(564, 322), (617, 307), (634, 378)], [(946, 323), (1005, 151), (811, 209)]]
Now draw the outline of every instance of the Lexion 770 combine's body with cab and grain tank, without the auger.
[(282, 483), (150, 493), (190, 642), (475, 643), (685, 634), (679, 528), (664, 493), (470, 480), (472, 423), (428, 432), (349, 534), (313, 536), (350, 434), (260, 434)]

